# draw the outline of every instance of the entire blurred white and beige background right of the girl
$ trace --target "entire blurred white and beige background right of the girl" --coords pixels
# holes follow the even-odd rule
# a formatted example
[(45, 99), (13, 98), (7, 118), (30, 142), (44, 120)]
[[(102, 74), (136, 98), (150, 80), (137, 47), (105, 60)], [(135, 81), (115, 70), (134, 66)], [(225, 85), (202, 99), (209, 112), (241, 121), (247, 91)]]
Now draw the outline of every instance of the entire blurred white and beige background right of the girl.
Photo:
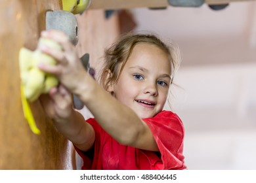
[(131, 12), (136, 31), (181, 48), (171, 105), (184, 122), (188, 169), (256, 169), (256, 2)]

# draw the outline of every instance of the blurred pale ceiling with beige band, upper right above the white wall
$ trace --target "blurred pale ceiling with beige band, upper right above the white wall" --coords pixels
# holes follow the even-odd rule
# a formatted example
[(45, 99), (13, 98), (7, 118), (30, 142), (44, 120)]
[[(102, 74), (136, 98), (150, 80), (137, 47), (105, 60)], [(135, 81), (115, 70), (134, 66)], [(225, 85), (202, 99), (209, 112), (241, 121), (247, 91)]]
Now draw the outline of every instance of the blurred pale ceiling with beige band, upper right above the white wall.
[(182, 67), (256, 61), (256, 1), (223, 10), (167, 7), (131, 9), (136, 31), (152, 31), (179, 44)]

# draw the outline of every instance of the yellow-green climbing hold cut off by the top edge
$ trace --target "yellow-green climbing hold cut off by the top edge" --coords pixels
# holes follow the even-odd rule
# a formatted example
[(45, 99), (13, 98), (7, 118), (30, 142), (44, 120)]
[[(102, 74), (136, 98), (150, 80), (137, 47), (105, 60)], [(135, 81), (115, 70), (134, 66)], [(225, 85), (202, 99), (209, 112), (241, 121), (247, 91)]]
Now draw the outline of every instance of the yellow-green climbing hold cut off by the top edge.
[(63, 10), (73, 14), (82, 14), (91, 4), (91, 0), (62, 0)]

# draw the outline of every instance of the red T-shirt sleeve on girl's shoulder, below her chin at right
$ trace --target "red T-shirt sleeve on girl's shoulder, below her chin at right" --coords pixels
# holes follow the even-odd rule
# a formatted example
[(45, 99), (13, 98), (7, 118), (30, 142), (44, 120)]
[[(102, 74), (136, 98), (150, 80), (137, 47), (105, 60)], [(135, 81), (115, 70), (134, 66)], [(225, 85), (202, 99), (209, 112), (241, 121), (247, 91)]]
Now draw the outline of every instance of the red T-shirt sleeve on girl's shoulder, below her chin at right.
[[(161, 154), (161, 162), (152, 169), (186, 169), (182, 155), (184, 127), (177, 114), (163, 110), (153, 118), (143, 120), (150, 127)], [(152, 152), (143, 153), (149, 161), (156, 159)]]

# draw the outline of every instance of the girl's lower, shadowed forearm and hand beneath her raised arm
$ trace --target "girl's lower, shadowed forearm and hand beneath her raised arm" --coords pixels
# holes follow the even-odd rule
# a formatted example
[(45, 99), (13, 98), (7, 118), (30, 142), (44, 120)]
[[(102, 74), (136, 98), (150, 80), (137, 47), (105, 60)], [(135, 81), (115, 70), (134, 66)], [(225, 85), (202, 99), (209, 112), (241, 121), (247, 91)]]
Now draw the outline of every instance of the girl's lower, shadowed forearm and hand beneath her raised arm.
[(41, 95), (41, 104), (53, 124), (80, 150), (87, 151), (93, 146), (95, 132), (83, 116), (72, 108), (72, 96), (63, 86), (52, 88), (49, 95)]

